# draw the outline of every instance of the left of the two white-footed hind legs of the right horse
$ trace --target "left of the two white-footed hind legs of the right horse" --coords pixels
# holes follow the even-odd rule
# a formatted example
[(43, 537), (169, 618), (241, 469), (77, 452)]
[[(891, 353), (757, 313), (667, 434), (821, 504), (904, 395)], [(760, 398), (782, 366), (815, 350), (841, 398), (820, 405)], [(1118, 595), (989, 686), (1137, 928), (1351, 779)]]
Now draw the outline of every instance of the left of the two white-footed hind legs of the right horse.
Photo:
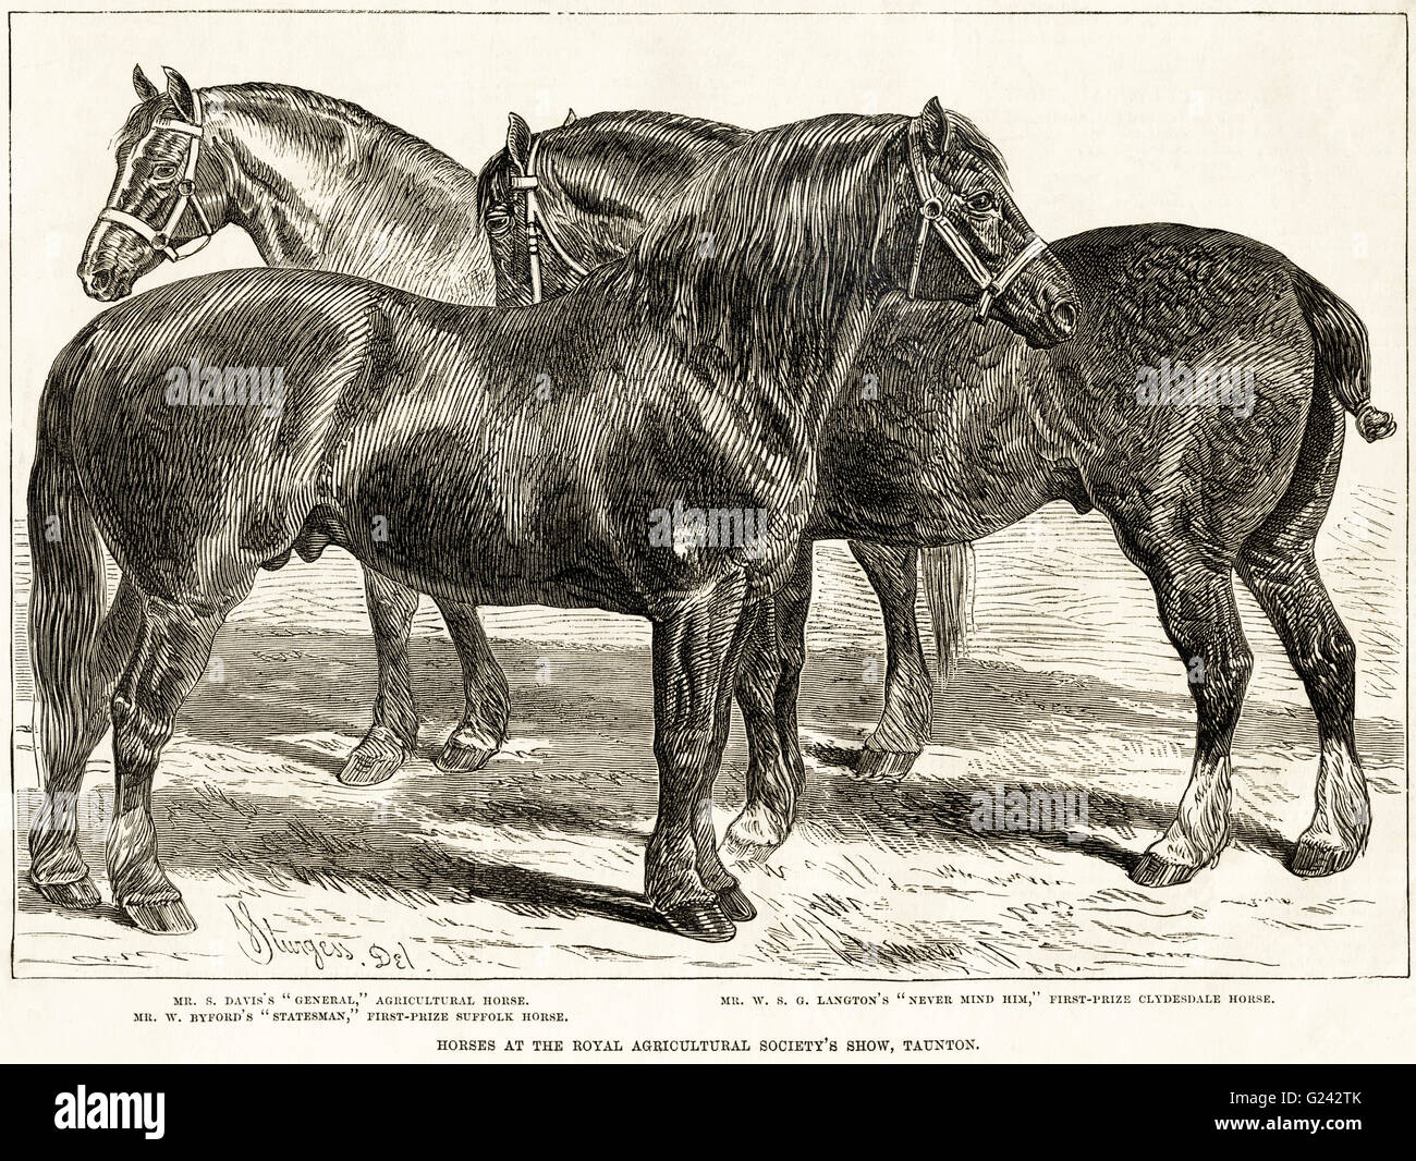
[(1253, 654), (1239, 624), (1228, 568), (1199, 554), (1172, 551), (1157, 559), (1123, 538), (1129, 555), (1146, 569), (1155, 589), (1161, 622), (1185, 665), (1195, 699), (1195, 763), (1175, 821), (1131, 869), (1143, 886), (1174, 886), (1212, 867), (1229, 841), (1229, 745), (1253, 670)]

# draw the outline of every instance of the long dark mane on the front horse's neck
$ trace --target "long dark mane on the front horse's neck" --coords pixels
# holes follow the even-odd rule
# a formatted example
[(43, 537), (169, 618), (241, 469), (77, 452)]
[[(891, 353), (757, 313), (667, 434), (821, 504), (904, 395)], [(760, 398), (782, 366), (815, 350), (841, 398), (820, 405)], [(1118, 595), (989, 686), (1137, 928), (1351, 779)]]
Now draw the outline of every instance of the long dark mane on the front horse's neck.
[(650, 221), (627, 255), (629, 293), (680, 341), (738, 360), (735, 375), (821, 370), (818, 338), (786, 320), (834, 336), (851, 292), (868, 290), (895, 190), (877, 171), (906, 120), (838, 113), (750, 135)]

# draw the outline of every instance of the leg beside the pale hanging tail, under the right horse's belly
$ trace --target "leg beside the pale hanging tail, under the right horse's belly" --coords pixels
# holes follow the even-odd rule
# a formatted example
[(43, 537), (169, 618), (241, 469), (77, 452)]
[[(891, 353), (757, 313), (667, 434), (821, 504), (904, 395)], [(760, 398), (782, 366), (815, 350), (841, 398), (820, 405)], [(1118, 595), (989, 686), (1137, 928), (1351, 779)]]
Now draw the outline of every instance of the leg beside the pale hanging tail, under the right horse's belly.
[(929, 742), (932, 691), (915, 619), (919, 551), (851, 541), (885, 616), (885, 708), (865, 739), (858, 777), (896, 782)]

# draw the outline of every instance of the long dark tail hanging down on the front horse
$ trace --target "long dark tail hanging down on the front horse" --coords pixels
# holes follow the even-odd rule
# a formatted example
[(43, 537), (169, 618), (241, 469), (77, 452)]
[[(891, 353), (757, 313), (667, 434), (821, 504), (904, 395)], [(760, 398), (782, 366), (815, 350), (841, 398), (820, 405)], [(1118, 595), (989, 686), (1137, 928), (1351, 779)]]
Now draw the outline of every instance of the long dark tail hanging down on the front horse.
[(71, 343), (50, 371), (30, 473), (30, 657), (35, 750), (41, 769), (67, 770), (88, 757), (95, 705), (95, 647), (108, 605), (103, 554), (74, 464), (69, 412), (86, 344)]

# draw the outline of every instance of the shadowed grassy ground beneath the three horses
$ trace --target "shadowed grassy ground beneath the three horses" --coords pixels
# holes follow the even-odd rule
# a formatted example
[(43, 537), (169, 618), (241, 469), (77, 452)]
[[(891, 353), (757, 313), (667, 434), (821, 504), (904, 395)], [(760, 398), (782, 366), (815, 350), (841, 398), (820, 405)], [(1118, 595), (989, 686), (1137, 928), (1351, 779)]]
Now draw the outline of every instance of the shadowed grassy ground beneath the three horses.
[[(476, 774), (430, 762), (457, 711), (456, 657), (419, 614), (423, 756), (371, 790), (334, 780), (372, 698), (357, 571), (336, 552), (262, 579), (217, 644), (157, 777), (163, 859), (200, 930), (146, 936), (116, 909), (51, 908), (21, 879), (21, 976), (1264, 977), (1403, 974), (1408, 944), (1405, 576), (1396, 493), (1364, 491), (1320, 545), (1358, 640), (1368, 854), (1342, 875), (1284, 869), (1307, 824), (1313, 716), (1246, 593), (1257, 664), (1235, 742), (1235, 841), (1185, 886), (1143, 891), (1134, 855), (1172, 816), (1194, 729), (1144, 580), (1104, 521), (1058, 507), (978, 549), (977, 636), (936, 698), (932, 745), (893, 786), (850, 774), (874, 724), (882, 637), (843, 545), (817, 548), (803, 694), (810, 787), (759, 917), (728, 944), (663, 932), (640, 899), (653, 823), (649, 634), (639, 622), (491, 610), (511, 738)], [(17, 547), (17, 624), (27, 596)], [(16, 674), (23, 837), (37, 801), (28, 660)], [(738, 726), (719, 830), (742, 796)], [(85, 796), (102, 868), (108, 743)], [(970, 827), (977, 791), (1085, 791), (1078, 834)], [(17, 844), (24, 871), (23, 841)], [(99, 875), (101, 881), (102, 876)]]

